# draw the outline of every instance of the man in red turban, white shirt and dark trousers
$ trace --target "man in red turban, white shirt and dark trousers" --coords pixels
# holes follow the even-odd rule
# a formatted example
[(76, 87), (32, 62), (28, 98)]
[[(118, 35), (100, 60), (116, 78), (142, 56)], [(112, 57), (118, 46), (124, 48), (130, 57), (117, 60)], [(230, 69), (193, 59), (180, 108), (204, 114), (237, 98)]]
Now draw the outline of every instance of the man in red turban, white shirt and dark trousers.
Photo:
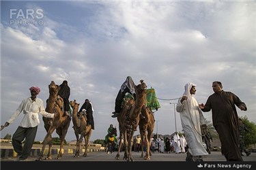
[[(51, 114), (45, 111), (42, 99), (37, 97), (40, 92), (39, 87), (32, 86), (29, 90), (31, 97), (23, 99), (10, 119), (1, 126), (1, 128), (9, 126), (20, 113), (23, 113), (23, 120), (21, 120), (18, 129), (15, 131), (14, 135), (12, 135), (12, 146), (14, 147), (14, 151), (18, 153), (14, 161), (23, 161), (29, 156), (35, 135), (38, 131), (38, 124), (40, 123), (38, 114), (42, 114), (42, 116), (46, 118), (57, 116), (57, 114)], [(25, 142), (23, 146), (24, 139)]]

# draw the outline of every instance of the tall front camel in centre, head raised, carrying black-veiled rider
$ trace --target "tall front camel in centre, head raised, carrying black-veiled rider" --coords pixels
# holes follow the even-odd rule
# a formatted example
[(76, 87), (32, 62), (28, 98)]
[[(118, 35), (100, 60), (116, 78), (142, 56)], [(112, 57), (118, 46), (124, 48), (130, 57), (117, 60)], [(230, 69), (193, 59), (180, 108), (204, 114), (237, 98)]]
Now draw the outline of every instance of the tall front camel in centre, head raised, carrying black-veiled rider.
[(141, 84), (135, 87), (136, 100), (134, 101), (131, 98), (125, 99), (122, 111), (119, 116), (117, 116), (120, 140), (117, 155), (115, 156), (116, 159), (119, 159), (121, 139), (124, 137), (124, 160), (134, 161), (132, 158), (133, 135), (139, 125), (141, 109), (143, 105), (146, 104), (147, 85), (143, 80), (140, 82)]

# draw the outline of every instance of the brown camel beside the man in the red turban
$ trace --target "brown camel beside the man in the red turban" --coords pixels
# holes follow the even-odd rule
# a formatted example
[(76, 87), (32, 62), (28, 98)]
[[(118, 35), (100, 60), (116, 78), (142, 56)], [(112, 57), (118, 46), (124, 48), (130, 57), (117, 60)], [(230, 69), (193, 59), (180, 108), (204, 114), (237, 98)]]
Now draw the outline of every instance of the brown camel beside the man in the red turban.
[(66, 134), (68, 132), (68, 127), (70, 126), (70, 118), (69, 116), (64, 115), (63, 112), (63, 99), (58, 96), (58, 92), (60, 87), (55, 84), (55, 82), (51, 81), (51, 84), (48, 86), (49, 88), (49, 97), (47, 99), (46, 103), (46, 112), (49, 113), (57, 113), (58, 116), (51, 119), (51, 118), (44, 118), (44, 129), (46, 129), (46, 136), (44, 137), (44, 141), (42, 142), (42, 150), (39, 154), (39, 157), (37, 160), (42, 160), (44, 156), (44, 149), (48, 143), (48, 154), (46, 159), (52, 159), (52, 145), (53, 145), (53, 139), (52, 139), (52, 133), (56, 129), (56, 133), (59, 135), (59, 138), (61, 140), (60, 150), (59, 154), (57, 155), (57, 159), (62, 157), (62, 150), (63, 150), (63, 143), (66, 137)]

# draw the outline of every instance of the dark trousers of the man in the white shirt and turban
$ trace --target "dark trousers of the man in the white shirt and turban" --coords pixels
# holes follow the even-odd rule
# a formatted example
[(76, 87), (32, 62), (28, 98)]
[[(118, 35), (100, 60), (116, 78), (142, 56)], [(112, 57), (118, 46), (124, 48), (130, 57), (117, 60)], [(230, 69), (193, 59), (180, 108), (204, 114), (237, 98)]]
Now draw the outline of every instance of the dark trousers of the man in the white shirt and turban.
[[(35, 141), (35, 135), (38, 131), (38, 126), (23, 128), (18, 126), (18, 129), (15, 131), (12, 136), (12, 146), (14, 147), (14, 151), (18, 153), (20, 159), (26, 159), (32, 149), (33, 141)], [(25, 143), (23, 146), (23, 140), (25, 139)]]

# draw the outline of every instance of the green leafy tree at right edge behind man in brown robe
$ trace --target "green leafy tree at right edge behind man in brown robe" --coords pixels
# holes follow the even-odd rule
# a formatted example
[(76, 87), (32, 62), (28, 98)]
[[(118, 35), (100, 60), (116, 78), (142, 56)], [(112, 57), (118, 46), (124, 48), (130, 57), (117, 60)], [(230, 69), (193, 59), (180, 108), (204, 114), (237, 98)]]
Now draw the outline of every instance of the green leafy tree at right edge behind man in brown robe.
[(247, 148), (248, 146), (256, 143), (256, 124), (255, 122), (250, 122), (247, 116), (241, 116), (240, 118), (248, 129), (248, 131), (244, 132), (244, 144)]

